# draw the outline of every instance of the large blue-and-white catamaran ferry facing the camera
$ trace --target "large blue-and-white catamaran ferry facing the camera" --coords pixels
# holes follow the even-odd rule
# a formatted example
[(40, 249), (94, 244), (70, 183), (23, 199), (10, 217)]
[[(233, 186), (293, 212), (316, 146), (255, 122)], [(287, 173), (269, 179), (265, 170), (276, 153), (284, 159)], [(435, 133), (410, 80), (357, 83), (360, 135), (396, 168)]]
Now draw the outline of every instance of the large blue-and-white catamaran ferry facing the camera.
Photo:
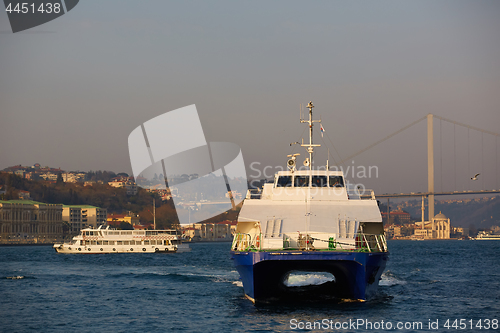
[[(378, 287), (389, 252), (382, 217), (372, 190), (360, 193), (342, 171), (313, 170), (313, 125), (306, 170), (299, 154), (288, 155), (288, 170), (273, 183), (249, 190), (240, 211), (231, 259), (245, 296), (254, 303), (273, 301), (365, 301)], [(323, 128), (321, 127), (321, 130)], [(294, 285), (290, 278), (323, 274), (324, 283)], [(321, 282), (321, 281), (320, 281)]]

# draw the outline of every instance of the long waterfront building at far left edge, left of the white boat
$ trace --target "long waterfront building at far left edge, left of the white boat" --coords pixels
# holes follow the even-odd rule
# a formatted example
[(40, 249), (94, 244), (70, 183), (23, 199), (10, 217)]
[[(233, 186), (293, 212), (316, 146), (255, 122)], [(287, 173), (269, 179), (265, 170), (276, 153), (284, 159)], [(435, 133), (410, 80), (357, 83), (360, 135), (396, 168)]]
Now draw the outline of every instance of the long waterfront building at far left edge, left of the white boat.
[(62, 205), (0, 200), (0, 243), (50, 243), (63, 237)]

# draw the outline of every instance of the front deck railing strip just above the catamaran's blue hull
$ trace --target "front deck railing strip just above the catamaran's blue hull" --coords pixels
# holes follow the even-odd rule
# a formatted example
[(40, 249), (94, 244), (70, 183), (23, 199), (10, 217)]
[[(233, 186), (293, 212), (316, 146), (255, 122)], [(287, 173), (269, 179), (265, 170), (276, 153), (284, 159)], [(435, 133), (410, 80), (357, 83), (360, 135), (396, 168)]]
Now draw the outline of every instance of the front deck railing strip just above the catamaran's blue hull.
[(247, 251), (348, 251), (387, 252), (387, 240), (383, 234), (348, 234), (339, 237), (335, 233), (307, 232), (280, 234), (265, 237), (264, 234), (236, 234), (231, 250)]

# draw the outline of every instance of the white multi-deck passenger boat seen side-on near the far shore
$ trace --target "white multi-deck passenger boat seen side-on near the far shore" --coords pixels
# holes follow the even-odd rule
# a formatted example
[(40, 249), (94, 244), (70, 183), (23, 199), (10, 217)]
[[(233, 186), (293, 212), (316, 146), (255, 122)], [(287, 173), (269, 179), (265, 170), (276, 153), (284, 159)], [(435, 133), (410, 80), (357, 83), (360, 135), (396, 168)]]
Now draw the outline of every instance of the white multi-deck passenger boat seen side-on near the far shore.
[(54, 244), (57, 253), (188, 252), (177, 230), (82, 229), (71, 242)]

